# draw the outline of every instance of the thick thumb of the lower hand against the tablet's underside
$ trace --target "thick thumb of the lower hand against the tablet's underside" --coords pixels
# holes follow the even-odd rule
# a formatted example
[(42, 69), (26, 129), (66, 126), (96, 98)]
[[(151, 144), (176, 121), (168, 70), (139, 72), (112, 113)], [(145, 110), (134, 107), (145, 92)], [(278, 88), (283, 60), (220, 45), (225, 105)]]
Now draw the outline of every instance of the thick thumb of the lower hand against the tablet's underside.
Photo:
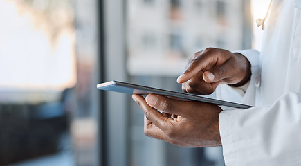
[(147, 95), (145, 101), (149, 106), (165, 113), (176, 114), (183, 117), (188, 115), (188, 113), (185, 113), (184, 111), (188, 107), (188, 103), (185, 101), (173, 100), (163, 95), (154, 94)]

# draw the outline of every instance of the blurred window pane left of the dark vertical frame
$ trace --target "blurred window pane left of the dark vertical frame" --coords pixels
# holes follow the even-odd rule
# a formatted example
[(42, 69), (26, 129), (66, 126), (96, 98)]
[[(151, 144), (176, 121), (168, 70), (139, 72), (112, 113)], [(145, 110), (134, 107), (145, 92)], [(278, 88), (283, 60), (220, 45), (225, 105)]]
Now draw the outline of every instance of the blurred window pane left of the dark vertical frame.
[(0, 0), (0, 165), (95, 165), (96, 4)]

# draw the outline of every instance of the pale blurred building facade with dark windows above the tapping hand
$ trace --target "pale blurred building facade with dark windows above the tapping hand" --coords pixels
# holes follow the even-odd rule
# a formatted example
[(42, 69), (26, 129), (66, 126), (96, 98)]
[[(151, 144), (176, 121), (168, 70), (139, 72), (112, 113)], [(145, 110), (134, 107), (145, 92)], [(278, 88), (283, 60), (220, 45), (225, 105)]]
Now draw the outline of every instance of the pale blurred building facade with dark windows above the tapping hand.
[[(127, 68), (132, 75), (179, 75), (207, 47), (244, 47), (244, 1), (127, 1)], [(156, 64), (156, 68), (154, 68)]]

